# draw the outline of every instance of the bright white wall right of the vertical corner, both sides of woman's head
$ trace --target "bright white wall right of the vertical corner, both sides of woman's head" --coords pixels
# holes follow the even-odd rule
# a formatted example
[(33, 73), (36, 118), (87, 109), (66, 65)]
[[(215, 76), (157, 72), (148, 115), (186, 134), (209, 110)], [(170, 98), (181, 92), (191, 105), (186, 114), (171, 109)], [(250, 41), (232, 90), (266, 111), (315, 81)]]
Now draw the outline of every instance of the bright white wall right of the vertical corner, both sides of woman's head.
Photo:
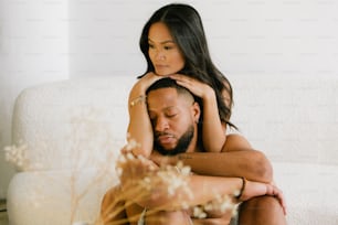
[[(150, 13), (168, 2), (71, 1), (71, 76), (144, 72), (140, 30)], [(337, 76), (337, 1), (183, 2), (200, 11), (213, 58), (230, 77), (239, 73)]]

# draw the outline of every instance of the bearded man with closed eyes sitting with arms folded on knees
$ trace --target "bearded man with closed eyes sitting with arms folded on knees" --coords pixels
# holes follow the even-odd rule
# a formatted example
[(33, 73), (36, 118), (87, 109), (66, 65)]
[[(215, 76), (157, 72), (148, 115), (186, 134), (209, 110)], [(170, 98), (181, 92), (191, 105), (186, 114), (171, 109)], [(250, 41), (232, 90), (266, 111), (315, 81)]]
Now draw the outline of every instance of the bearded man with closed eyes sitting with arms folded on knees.
[[(240, 224), (285, 224), (283, 195), (274, 185), (267, 184), (272, 182), (271, 164), (261, 152), (251, 150), (244, 138), (229, 136), (222, 153), (204, 153), (198, 133), (200, 106), (186, 88), (180, 87), (170, 78), (162, 78), (149, 87), (147, 105), (156, 149), (151, 159), (157, 163), (165, 161), (173, 164), (180, 160), (199, 174), (191, 175), (188, 184), (194, 196), (192, 200), (186, 200), (191, 206), (212, 201), (214, 193), (231, 195), (234, 190), (241, 190), (241, 196), (237, 199), (241, 202), (245, 201), (245, 203), (241, 206)], [(170, 157), (163, 158), (157, 152)], [(151, 161), (141, 160), (137, 170), (125, 167), (124, 178), (128, 176), (133, 181), (142, 178), (142, 171), (147, 172), (147, 167), (151, 163)], [(239, 179), (241, 176), (246, 178), (247, 181)], [(122, 184), (127, 182), (128, 179), (123, 179)], [(161, 189), (158, 188), (158, 190)], [(146, 192), (146, 190), (142, 191)], [(168, 202), (172, 207), (167, 206), (166, 210), (154, 215), (145, 214), (142, 217), (146, 224), (151, 224), (151, 218), (157, 218), (155, 224), (159, 224), (160, 218), (165, 219), (163, 224), (189, 224), (192, 222), (189, 213), (177, 210), (177, 205), (182, 199), (168, 197), (166, 193), (160, 191), (148, 193), (148, 199), (135, 201), (135, 204), (126, 206), (125, 211), (109, 218), (106, 216), (108, 215), (106, 212), (109, 211), (107, 208), (118, 192), (119, 189), (114, 189), (106, 194), (103, 201), (102, 215), (106, 222), (131, 217), (140, 212), (146, 212), (144, 208), (151, 211), (151, 208), (162, 206)], [(276, 197), (264, 196), (266, 194), (276, 195)], [(236, 201), (235, 196), (233, 199)], [(118, 206), (124, 207), (125, 205), (119, 202)], [(231, 216), (226, 213), (210, 212), (207, 218), (200, 218), (196, 222), (200, 224), (228, 224), (230, 218)]]

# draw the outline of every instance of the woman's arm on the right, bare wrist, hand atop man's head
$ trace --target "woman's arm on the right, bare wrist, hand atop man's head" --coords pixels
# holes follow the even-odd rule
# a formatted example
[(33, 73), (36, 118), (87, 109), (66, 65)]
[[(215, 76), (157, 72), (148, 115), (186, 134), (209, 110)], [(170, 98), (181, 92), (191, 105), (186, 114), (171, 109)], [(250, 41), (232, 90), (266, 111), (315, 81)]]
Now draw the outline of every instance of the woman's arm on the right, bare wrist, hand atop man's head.
[(203, 100), (203, 147), (208, 152), (220, 152), (225, 142), (225, 126), (222, 125), (214, 90), (187, 75), (171, 75), (179, 85)]

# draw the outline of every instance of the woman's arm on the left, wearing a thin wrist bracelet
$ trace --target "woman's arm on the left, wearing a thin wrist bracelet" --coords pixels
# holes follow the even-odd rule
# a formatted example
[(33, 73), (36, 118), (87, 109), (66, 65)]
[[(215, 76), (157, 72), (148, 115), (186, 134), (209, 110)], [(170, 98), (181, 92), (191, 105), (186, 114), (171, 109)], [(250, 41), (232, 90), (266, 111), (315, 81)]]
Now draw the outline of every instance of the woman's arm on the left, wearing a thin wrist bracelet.
[(160, 76), (148, 73), (141, 77), (131, 88), (128, 99), (129, 125), (128, 141), (136, 141), (137, 146), (133, 148), (134, 154), (141, 154), (148, 158), (152, 151), (154, 135), (149, 119), (146, 90), (148, 87), (160, 79)]

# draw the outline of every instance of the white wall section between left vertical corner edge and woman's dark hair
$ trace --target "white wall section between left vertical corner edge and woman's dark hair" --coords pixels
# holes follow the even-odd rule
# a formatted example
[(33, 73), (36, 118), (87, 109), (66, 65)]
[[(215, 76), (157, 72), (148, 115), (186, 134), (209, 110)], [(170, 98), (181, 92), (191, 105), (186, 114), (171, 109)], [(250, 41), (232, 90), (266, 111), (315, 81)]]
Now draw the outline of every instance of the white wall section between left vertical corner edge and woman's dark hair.
[(146, 20), (160, 6), (161, 1), (71, 1), (71, 76), (144, 73), (138, 40)]

